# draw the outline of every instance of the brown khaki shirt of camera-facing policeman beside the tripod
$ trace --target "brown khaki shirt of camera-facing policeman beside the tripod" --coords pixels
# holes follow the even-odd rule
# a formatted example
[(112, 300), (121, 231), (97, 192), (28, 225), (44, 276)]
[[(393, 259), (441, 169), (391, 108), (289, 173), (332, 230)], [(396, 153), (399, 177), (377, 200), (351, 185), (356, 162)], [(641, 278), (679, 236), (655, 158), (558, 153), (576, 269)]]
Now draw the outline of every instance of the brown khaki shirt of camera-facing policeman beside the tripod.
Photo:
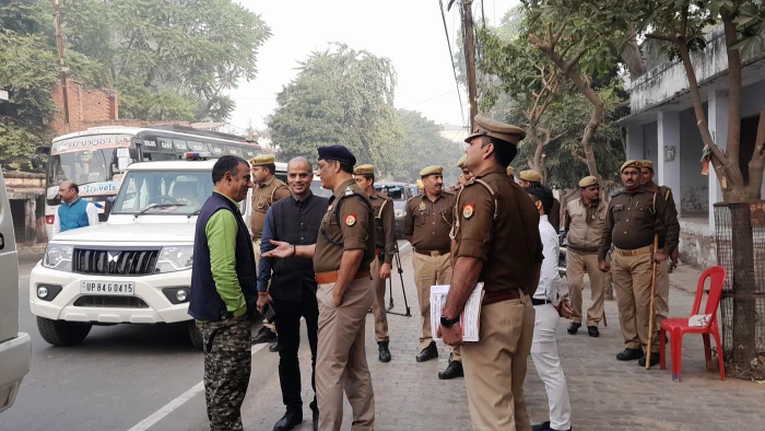
[(449, 251), (449, 233), (454, 224), (455, 195), (442, 191), (435, 202), (427, 195), (407, 201), (403, 234), (412, 236), (412, 247), (423, 252)]

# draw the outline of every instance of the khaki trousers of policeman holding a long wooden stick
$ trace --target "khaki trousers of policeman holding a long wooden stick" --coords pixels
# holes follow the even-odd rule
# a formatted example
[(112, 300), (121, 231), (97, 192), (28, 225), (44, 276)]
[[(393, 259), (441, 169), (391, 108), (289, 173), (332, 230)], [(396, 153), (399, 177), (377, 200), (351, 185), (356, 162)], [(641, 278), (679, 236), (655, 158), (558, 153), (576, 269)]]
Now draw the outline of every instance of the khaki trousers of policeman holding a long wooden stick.
[[(628, 349), (645, 348), (648, 343), (648, 316), (650, 315), (651, 254), (622, 256), (614, 252), (611, 261), (624, 343)], [(662, 264), (667, 265), (666, 261)], [(654, 331), (651, 351), (658, 352), (657, 325), (654, 325)]]

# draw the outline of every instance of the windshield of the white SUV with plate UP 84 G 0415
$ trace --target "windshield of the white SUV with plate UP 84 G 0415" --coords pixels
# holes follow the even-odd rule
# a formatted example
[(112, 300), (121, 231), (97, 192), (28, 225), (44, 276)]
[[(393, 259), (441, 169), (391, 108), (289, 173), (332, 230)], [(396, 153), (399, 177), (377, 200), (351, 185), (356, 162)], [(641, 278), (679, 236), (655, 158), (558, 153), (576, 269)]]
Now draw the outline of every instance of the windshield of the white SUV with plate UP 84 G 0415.
[[(111, 213), (137, 214), (143, 211), (145, 214), (188, 215), (202, 208), (211, 193), (209, 172), (129, 172), (119, 188)], [(146, 209), (150, 206), (154, 207)]]

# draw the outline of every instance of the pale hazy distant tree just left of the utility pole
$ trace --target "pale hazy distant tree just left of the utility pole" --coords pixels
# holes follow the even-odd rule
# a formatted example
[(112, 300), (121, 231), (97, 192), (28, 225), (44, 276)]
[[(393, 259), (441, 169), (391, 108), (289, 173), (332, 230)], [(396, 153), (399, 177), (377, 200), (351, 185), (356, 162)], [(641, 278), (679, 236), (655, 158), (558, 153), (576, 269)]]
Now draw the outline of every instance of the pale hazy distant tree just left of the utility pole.
[(440, 136), (440, 126), (423, 117), (416, 110), (399, 109), (403, 125), (403, 158), (401, 172), (396, 179), (413, 182), (420, 178), (420, 171), (429, 165), (444, 167), (444, 184), (457, 183), (462, 171), (456, 167), (459, 158), (464, 154), (461, 142), (451, 142)]

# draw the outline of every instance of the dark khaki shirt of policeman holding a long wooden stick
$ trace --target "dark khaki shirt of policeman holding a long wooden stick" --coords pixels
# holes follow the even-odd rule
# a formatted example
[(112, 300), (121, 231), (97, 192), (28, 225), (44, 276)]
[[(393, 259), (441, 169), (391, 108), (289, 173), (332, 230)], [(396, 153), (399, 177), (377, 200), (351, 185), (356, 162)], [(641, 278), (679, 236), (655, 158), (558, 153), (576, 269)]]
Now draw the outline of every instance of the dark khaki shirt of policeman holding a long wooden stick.
[[(676, 237), (668, 238), (662, 223), (666, 208), (664, 199), (645, 188), (638, 188), (633, 194), (625, 190), (614, 196), (605, 215), (598, 259), (605, 259), (612, 242), (616, 248), (636, 249), (652, 246), (654, 235), (658, 234), (660, 249), (666, 244), (676, 244)], [(664, 248), (662, 253), (670, 254), (671, 249)]]

